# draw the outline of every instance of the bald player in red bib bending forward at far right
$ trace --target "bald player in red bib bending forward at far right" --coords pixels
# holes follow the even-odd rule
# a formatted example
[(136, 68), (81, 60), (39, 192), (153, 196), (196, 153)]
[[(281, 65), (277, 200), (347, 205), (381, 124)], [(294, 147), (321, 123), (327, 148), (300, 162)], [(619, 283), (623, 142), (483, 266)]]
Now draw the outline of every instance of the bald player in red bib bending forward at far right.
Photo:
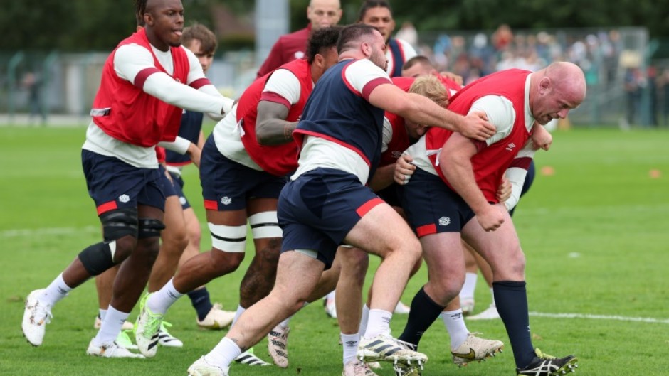
[[(534, 73), (497, 72), (465, 86), (448, 105), (459, 114), (485, 112), (497, 128), (494, 136), (474, 141), (431, 128), (408, 149), (416, 172), (404, 186), (402, 207), (421, 240), (429, 279), (413, 298), (400, 340), (418, 346), (423, 333), (458, 296), (465, 278), (462, 237), (492, 267), (495, 303), (509, 335), (517, 375), (558, 375), (577, 367), (573, 355), (554, 358), (532, 345), (525, 255), (496, 193), (505, 171), (532, 136), (534, 122), (544, 125), (564, 119), (585, 95), (583, 72), (571, 63), (553, 63)], [(399, 374), (410, 372), (415, 370), (406, 367)]]

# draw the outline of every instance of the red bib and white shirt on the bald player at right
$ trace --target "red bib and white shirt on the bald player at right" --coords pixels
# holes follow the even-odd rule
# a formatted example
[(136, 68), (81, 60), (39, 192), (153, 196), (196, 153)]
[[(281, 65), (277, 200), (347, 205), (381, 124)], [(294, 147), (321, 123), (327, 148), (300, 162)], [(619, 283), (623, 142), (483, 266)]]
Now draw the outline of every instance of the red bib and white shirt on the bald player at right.
[[(485, 76), (465, 86), (448, 105), (448, 109), (458, 114), (483, 111), (497, 128), (490, 139), (476, 143), (478, 152), (471, 159), (476, 183), (491, 203), (497, 203), (502, 176), (530, 139), (534, 124), (529, 104), (531, 73), (505, 70)], [(439, 166), (438, 161), (451, 134), (452, 131), (432, 127), (409, 148), (418, 168), (440, 176), (448, 186), (451, 184), (442, 172), (448, 166)]]

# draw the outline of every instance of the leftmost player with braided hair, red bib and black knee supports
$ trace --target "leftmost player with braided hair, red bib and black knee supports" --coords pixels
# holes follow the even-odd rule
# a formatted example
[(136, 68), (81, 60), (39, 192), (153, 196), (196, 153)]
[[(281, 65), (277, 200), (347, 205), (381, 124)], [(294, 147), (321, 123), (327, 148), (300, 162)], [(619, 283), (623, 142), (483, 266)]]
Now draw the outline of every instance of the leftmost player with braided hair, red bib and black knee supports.
[(109, 309), (87, 353), (142, 357), (120, 348), (115, 339), (147, 284), (164, 228), (165, 196), (157, 183), (155, 146), (165, 142), (179, 148), (174, 141), (182, 108), (218, 116), (231, 109), (233, 101), (218, 93), (195, 55), (181, 46), (181, 0), (139, 0), (136, 5), (146, 26), (107, 58), (82, 151), (104, 241), (86, 247), (46, 289), (28, 295), (22, 329), (35, 346), (41, 345), (58, 301), (122, 262)]

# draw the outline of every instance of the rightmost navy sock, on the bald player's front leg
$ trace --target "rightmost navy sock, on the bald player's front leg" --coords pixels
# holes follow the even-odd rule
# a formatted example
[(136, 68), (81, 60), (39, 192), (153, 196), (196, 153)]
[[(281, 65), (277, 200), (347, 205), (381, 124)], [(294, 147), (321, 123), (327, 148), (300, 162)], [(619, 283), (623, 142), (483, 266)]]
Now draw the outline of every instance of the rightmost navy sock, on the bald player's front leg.
[(507, 328), (516, 367), (527, 367), (534, 359), (534, 346), (530, 335), (525, 281), (492, 282), (492, 291), (497, 312)]

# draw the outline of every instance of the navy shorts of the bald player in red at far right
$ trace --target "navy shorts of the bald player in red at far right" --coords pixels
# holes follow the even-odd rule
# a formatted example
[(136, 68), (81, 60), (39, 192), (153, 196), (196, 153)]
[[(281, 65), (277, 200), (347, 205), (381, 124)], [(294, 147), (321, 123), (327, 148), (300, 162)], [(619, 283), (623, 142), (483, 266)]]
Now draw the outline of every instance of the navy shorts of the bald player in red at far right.
[(474, 217), (465, 200), (440, 177), (416, 168), (404, 186), (402, 208), (418, 237), (438, 232), (460, 232)]

